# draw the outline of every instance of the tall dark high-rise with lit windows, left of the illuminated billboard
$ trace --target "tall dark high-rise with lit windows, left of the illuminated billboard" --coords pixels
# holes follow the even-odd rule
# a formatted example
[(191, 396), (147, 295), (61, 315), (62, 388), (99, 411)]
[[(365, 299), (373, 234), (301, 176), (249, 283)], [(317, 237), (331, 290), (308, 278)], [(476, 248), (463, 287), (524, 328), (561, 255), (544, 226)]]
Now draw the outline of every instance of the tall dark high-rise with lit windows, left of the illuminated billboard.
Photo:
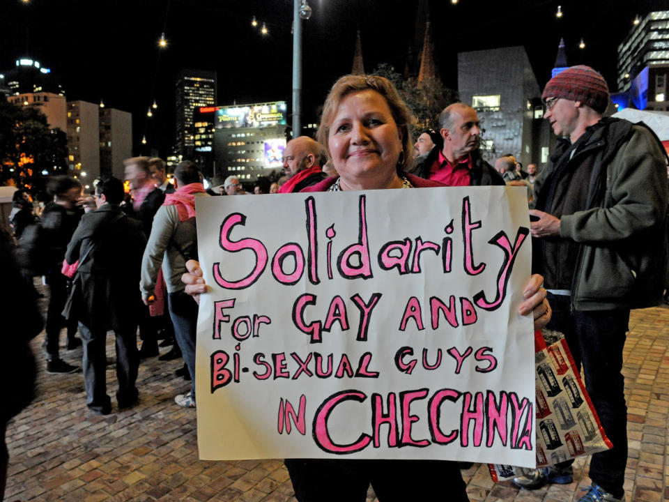
[(194, 110), (214, 106), (216, 73), (181, 70), (176, 79), (176, 155), (192, 157), (195, 147)]

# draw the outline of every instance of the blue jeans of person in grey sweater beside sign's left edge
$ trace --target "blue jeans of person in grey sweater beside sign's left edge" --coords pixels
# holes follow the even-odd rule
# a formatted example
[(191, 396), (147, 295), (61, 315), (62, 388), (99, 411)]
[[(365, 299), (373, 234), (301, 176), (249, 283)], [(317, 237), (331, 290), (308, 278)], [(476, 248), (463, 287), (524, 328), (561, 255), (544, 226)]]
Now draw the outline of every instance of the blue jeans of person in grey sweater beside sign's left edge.
[(195, 333), (197, 329), (197, 303), (185, 291), (167, 295), (169, 317), (174, 324), (174, 337), (190, 373), (190, 395), (195, 400)]

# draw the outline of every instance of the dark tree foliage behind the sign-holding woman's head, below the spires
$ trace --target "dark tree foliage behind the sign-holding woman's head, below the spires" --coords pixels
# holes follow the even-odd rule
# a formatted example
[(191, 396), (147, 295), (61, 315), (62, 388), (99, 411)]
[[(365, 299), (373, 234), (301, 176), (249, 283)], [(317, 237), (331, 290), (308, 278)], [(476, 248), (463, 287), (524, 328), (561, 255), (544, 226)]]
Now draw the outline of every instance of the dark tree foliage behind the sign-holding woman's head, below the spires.
[(456, 91), (448, 89), (440, 81), (426, 79), (418, 82), (414, 77), (405, 79), (387, 63), (378, 65), (374, 73), (386, 77), (397, 88), (416, 118), (413, 133), (424, 129), (439, 130), (440, 112), (459, 99)]

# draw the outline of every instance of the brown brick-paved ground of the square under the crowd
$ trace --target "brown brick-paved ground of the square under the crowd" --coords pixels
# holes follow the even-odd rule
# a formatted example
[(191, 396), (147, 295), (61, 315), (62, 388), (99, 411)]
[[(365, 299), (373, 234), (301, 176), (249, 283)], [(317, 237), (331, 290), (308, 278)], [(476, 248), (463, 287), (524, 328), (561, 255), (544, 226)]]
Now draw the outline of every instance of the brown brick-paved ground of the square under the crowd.
[[(624, 366), (630, 439), (626, 501), (668, 501), (669, 308), (633, 312), (630, 327)], [(43, 335), (34, 340), (36, 352), (42, 342)], [(80, 363), (81, 349), (63, 356)], [(49, 375), (39, 363), (38, 398), (7, 430), (6, 501), (295, 500), (279, 460), (199, 461), (194, 410), (173, 400), (189, 388), (174, 377), (180, 362), (144, 361), (140, 404), (106, 417), (86, 411), (81, 373)], [(114, 383), (111, 366), (108, 378)], [(485, 466), (463, 474), (472, 501), (570, 502), (578, 499), (580, 486), (590, 484), (587, 459), (578, 459), (575, 467), (571, 485), (535, 492), (518, 491), (509, 482), (494, 484)], [(374, 500), (371, 492), (368, 499)]]

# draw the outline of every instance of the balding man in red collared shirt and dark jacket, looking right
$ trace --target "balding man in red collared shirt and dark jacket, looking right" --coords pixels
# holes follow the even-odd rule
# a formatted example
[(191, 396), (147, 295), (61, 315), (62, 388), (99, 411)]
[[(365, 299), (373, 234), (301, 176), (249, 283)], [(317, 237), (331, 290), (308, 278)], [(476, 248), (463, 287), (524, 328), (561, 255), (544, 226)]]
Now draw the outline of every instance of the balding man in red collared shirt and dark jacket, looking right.
[(475, 109), (453, 103), (439, 114), (439, 126), (443, 147), (439, 151), (432, 149), (420, 172), (415, 174), (447, 186), (505, 184), (481, 156), (481, 125)]

